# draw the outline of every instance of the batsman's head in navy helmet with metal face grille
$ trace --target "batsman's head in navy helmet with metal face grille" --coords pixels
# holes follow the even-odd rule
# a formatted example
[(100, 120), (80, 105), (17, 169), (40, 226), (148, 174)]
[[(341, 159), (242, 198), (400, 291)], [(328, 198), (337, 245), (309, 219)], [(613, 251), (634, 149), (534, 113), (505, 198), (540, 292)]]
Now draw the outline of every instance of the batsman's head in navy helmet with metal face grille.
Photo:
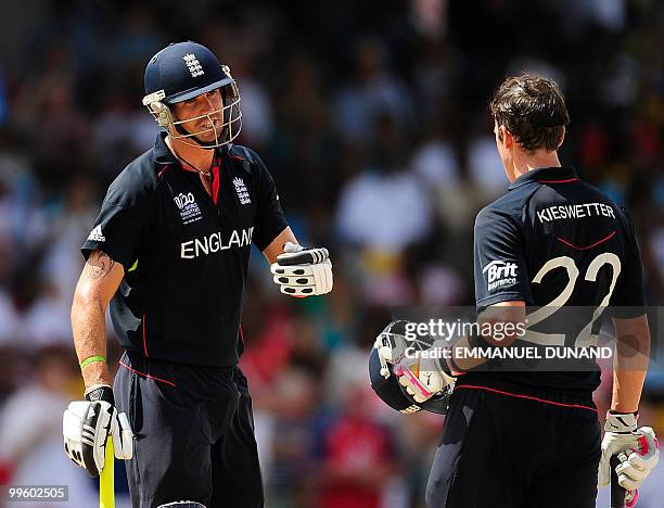
[(206, 47), (192, 41), (167, 46), (150, 59), (144, 85), (143, 105), (171, 139), (214, 149), (240, 134), (238, 85)]

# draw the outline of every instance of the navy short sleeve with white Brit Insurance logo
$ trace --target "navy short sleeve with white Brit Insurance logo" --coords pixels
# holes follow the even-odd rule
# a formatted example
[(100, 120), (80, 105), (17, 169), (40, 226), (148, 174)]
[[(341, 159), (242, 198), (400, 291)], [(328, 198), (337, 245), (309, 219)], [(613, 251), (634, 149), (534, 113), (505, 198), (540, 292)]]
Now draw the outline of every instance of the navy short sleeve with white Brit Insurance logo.
[(533, 303), (525, 245), (516, 223), (484, 208), (475, 220), (475, 301), (477, 307), (499, 302)]

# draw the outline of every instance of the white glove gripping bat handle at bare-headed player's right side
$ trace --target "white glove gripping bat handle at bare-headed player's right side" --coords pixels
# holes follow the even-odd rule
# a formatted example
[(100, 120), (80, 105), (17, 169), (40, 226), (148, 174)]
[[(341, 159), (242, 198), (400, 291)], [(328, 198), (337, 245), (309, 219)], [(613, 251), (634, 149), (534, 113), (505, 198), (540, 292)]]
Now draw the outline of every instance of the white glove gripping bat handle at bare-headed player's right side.
[(621, 465), (615, 468), (618, 484), (636, 500), (636, 491), (660, 460), (659, 442), (650, 427), (637, 429), (634, 414), (608, 414), (602, 440), (598, 485), (611, 483), (610, 460), (617, 455)]

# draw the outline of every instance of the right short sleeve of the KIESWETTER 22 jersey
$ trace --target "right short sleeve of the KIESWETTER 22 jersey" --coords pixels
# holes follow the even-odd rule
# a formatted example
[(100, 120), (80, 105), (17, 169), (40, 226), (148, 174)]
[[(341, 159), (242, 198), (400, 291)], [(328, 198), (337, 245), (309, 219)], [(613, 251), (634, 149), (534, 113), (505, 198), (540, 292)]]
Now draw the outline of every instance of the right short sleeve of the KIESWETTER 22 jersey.
[(618, 318), (641, 316), (646, 309), (643, 297), (643, 264), (636, 239), (634, 224), (623, 208), (625, 216), (625, 254), (621, 259), (621, 275), (611, 297), (609, 313)]

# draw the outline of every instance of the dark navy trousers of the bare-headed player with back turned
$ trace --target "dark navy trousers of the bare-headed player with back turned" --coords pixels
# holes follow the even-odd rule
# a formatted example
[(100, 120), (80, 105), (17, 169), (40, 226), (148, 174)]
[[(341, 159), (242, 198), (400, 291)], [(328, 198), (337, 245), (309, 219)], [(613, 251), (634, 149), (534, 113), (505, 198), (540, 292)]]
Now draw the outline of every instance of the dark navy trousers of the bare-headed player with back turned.
[(529, 396), (457, 386), (430, 508), (595, 508), (600, 426), (591, 395)]

